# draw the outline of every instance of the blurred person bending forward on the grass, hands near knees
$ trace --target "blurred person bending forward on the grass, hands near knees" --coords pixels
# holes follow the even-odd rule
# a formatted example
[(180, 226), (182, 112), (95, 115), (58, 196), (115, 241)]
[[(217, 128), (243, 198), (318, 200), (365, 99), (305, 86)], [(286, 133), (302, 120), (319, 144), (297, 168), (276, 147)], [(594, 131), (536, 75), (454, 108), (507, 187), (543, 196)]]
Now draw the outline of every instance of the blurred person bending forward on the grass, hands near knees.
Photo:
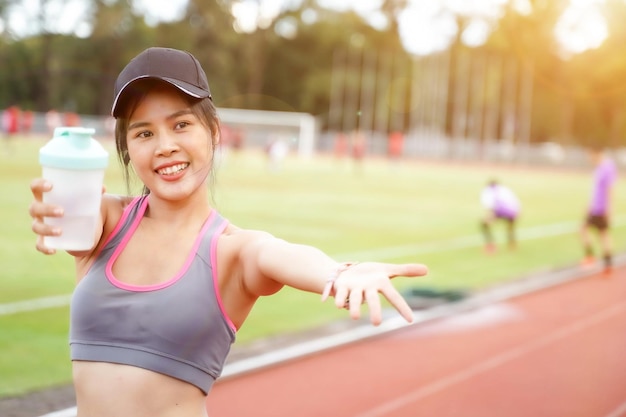
[(520, 213), (520, 202), (515, 193), (497, 180), (492, 179), (483, 188), (480, 202), (486, 209), (485, 216), (480, 222), (485, 252), (494, 253), (496, 250), (492, 231), (496, 221), (505, 223), (508, 246), (510, 249), (515, 249), (517, 246), (515, 228)]

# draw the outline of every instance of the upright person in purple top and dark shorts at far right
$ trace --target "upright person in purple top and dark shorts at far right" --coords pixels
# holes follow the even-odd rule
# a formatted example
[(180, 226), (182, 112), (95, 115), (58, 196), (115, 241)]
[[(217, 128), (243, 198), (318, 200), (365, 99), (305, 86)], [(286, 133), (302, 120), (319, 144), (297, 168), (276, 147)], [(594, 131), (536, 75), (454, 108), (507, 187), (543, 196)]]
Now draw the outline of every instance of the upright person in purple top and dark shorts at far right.
[(613, 267), (613, 242), (609, 233), (611, 189), (617, 179), (617, 168), (613, 160), (601, 149), (591, 149), (589, 156), (595, 166), (595, 170), (593, 173), (591, 200), (580, 232), (585, 253), (583, 265), (587, 266), (595, 263), (590, 233), (591, 229), (593, 229), (598, 234), (604, 272), (610, 273)]

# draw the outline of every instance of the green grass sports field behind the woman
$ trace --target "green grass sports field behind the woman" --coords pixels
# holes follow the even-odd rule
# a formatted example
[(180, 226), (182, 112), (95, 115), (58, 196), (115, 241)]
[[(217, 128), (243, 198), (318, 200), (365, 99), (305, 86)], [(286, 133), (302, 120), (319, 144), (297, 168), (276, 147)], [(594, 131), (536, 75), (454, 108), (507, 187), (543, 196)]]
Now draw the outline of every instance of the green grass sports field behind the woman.
[[(0, 307), (70, 294), (75, 280), (68, 255), (44, 256), (34, 249), (29, 182), (40, 175), (37, 156), (43, 141), (15, 145), (11, 152), (0, 147)], [(113, 144), (106, 146), (112, 153), (107, 189), (124, 193)], [(279, 173), (271, 173), (259, 152), (231, 154), (217, 171), (215, 204), (241, 227), (317, 246), (338, 261), (429, 266), (427, 277), (396, 279), (400, 289), (476, 290), (574, 265), (580, 258), (578, 226), (590, 192), (590, 170), (426, 161), (392, 167), (384, 160), (366, 160), (362, 168), (358, 172), (349, 161), (325, 157), (294, 157)], [(487, 256), (478, 231), (478, 194), (494, 176), (519, 194), (523, 215), (519, 248)], [(621, 181), (614, 195), (615, 248), (624, 252), (626, 193)], [(498, 229), (496, 237), (502, 242), (504, 230)], [(257, 304), (237, 343), (332, 320), (349, 318), (330, 302), (321, 305), (318, 295), (285, 289)], [(67, 306), (0, 314), (0, 396), (69, 383), (67, 332)]]

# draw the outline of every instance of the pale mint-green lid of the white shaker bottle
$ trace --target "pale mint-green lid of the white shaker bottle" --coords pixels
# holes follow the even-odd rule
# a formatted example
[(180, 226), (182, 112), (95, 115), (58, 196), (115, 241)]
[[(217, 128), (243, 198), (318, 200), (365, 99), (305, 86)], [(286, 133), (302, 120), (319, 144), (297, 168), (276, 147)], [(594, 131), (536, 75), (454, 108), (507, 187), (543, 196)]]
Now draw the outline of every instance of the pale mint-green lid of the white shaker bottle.
[(109, 164), (109, 153), (92, 136), (95, 129), (85, 127), (57, 127), (50, 139), (39, 150), (39, 163), (64, 169), (104, 169)]

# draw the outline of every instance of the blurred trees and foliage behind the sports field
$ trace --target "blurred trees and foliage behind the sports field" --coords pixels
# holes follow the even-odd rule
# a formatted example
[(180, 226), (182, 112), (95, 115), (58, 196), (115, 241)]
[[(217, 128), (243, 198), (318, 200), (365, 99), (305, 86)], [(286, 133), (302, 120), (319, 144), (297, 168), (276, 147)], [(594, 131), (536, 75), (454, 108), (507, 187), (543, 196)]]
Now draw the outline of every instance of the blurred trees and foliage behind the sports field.
[[(324, 9), (315, 0), (302, 0), (284, 6), (271, 21), (258, 16), (256, 30), (248, 32), (237, 28), (231, 13), (234, 0), (189, 0), (180, 20), (152, 26), (136, 14), (132, 1), (84, 1), (89, 6), (88, 37), (47, 30), (55, 17), (43, 14), (36, 22), (41, 30), (34, 35), (17, 37), (8, 25), (1, 26), (0, 108), (17, 104), (35, 111), (56, 108), (107, 114), (118, 72), (144, 48), (160, 45), (189, 50), (198, 57), (220, 107), (308, 112), (320, 116), (323, 128), (329, 128), (331, 83), (337, 71), (333, 57), (337, 52), (361, 54), (358, 63), (345, 69), (343, 86), (346, 96), (358, 97), (364, 94), (361, 77), (366, 76), (363, 52), (367, 51), (381, 61), (399, 63), (396, 74), (403, 80), (395, 85), (405, 90), (405, 96), (395, 103), (404, 103), (409, 110), (404, 110), (403, 120), (387, 122), (390, 131), (409, 127), (409, 83), (419, 82), (411, 77), (426, 73), (409, 72), (418, 57), (402, 47), (398, 35), (398, 16), (408, 6), (407, 0), (381, 3), (381, 14), (389, 23), (386, 29), (373, 28), (353, 11)], [(19, 3), (0, 1), (0, 23), (6, 22), (8, 8)], [(458, 100), (474, 100), (457, 93), (466, 88), (463, 83), (480, 75), (472, 65), (485, 60), (500, 63), (499, 72), (485, 75), (487, 83), (504, 82), (510, 63), (517, 71), (515, 83), (521, 83), (523, 71), (532, 74), (527, 140), (620, 146), (626, 134), (626, 57), (621, 53), (626, 41), (626, 2), (606, 0), (602, 7), (609, 38), (597, 49), (568, 57), (563, 56), (554, 35), (568, 1), (529, 0), (528, 13), (509, 3), (497, 21), (490, 22), (487, 41), (477, 47), (462, 42), (476, 17), (456, 16), (456, 37), (447, 51), (439, 52), (448, 54), (450, 63), (447, 133), (469, 129), (454, 126), (453, 110), (465, 104)], [(514, 94), (508, 99), (519, 104), (523, 100), (520, 91), (521, 87), (514, 93), (490, 91), (477, 100), (485, 108), (502, 106), (504, 96)], [(381, 111), (378, 103), (375, 109)], [(344, 106), (343, 111), (352, 109)], [(498, 123), (501, 127), (504, 122)]]

